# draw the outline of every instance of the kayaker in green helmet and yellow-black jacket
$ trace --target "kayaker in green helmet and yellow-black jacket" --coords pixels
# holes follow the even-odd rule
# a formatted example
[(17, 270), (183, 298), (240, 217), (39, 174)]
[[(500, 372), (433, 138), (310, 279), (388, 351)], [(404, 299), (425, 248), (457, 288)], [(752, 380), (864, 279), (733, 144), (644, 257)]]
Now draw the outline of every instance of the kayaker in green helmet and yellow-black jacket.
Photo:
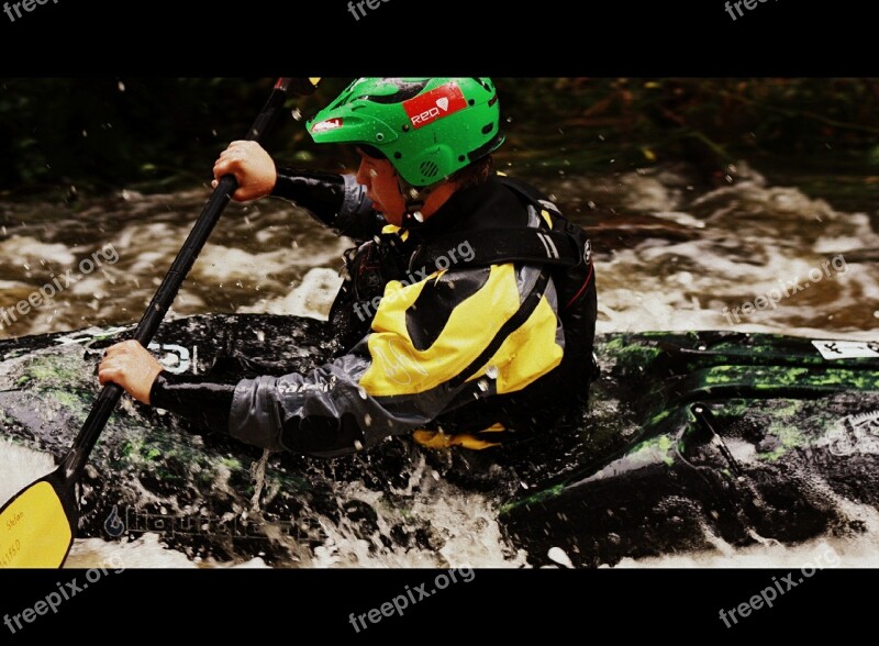
[(232, 143), (213, 172), (237, 178), (237, 201), (292, 201), (357, 243), (330, 313), (336, 357), (226, 383), (164, 371), (129, 341), (107, 350), (101, 383), (241, 442), (322, 457), (401, 434), (488, 448), (586, 400), (590, 245), (534, 188), (496, 172), (490, 79), (358, 79), (308, 130), (355, 146), (356, 175), (276, 165), (253, 142)]

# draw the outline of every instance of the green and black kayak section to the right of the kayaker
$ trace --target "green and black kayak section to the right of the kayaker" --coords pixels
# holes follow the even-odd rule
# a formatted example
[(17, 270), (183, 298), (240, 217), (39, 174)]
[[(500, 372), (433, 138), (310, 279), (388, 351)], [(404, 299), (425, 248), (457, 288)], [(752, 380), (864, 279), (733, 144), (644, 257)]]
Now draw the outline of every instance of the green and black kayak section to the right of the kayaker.
[(602, 336), (576, 457), (504, 503), (504, 528), (536, 560), (558, 547), (579, 566), (866, 531), (879, 503), (879, 354), (850, 344), (867, 356), (826, 359), (820, 345)]

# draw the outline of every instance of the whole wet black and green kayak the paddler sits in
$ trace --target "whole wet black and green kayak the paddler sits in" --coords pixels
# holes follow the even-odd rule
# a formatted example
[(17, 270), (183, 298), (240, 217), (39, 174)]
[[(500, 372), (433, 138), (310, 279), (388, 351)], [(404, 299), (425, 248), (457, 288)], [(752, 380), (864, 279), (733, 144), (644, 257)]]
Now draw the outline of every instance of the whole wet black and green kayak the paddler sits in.
[[(99, 391), (103, 348), (133, 327), (0, 341), (0, 439), (60, 459)], [(164, 323), (176, 374), (304, 371), (335, 349), (323, 321), (212, 314)], [(554, 428), (481, 452), (394, 437), (355, 456), (264, 454), (123, 399), (79, 487), (82, 537), (158, 533), (193, 559), (307, 566), (326, 520), (372, 547), (434, 547), (407, 519), (419, 465), (490, 497), (533, 566), (858, 535), (879, 504), (879, 344), (779, 334), (607, 333), (590, 401)], [(344, 495), (358, 481), (377, 497)], [(411, 491), (410, 491), (411, 492)], [(2, 503), (4, 501), (0, 501)], [(378, 536), (378, 538), (376, 538)]]

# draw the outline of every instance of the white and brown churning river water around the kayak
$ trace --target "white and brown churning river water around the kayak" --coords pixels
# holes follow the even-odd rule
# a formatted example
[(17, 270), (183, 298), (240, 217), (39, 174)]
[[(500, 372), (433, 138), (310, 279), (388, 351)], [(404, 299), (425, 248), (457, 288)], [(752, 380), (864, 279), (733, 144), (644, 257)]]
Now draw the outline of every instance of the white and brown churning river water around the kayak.
[[(875, 341), (879, 275), (865, 249), (879, 249), (874, 220), (863, 210), (839, 210), (795, 186), (771, 186), (739, 165), (741, 181), (696, 190), (686, 175), (671, 170), (609, 177), (549, 180), (563, 211), (593, 233), (599, 291), (598, 331), (734, 330), (779, 332), (811, 337)], [(87, 256), (96, 244), (111, 243), (120, 260), (96, 272), (40, 310), (0, 330), (0, 337), (78, 330), (87, 325), (130, 324), (148, 302), (197, 212), (201, 189), (142, 196), (87, 205), (73, 214), (41, 205), (22, 213), (21, 226), (0, 240), (0, 305), (14, 304), (53, 275)], [(864, 200), (864, 204), (869, 200)], [(340, 257), (349, 241), (316, 229), (289, 204), (230, 207), (221, 227), (193, 268), (169, 319), (201, 312), (298, 314), (325, 319), (341, 281)], [(107, 240), (82, 244), (76, 222), (93, 220)], [(149, 240), (145, 247), (137, 241)], [(802, 279), (822, 263), (842, 256), (820, 281), (738, 321), (726, 318), (779, 286)], [(836, 269), (839, 267), (839, 269)], [(842, 268), (845, 267), (845, 270)], [(489, 378), (491, 374), (487, 372)], [(738, 457), (738, 456), (737, 456)], [(0, 500), (54, 468), (51, 456), (0, 441)], [(278, 495), (267, 454), (252, 465), (253, 490), (242, 497), (229, 478), (215, 481), (242, 511), (258, 519)], [(445, 481), (422, 461), (410, 465), (407, 484), (377, 491), (363, 481), (337, 480), (338, 516), (315, 512), (320, 544), (291, 547), (289, 567), (530, 567), (528, 555), (511, 547), (498, 525), (497, 501)], [(144, 501), (190, 513), (186, 505), (143, 488)], [(864, 523), (859, 539), (822, 538), (797, 547), (760, 541), (739, 548), (709, 536), (714, 548), (693, 554), (623, 559), (617, 568), (800, 567), (832, 550), (839, 567), (876, 567), (879, 515), (876, 510), (834, 497), (847, 515)], [(364, 508), (375, 516), (358, 516)], [(289, 537), (272, 537), (287, 544)], [(558, 567), (570, 559), (558, 547), (549, 558)], [(127, 567), (270, 567), (262, 556), (224, 560), (168, 547), (164, 536), (145, 532), (121, 542), (77, 539), (69, 567), (89, 567), (112, 556)]]

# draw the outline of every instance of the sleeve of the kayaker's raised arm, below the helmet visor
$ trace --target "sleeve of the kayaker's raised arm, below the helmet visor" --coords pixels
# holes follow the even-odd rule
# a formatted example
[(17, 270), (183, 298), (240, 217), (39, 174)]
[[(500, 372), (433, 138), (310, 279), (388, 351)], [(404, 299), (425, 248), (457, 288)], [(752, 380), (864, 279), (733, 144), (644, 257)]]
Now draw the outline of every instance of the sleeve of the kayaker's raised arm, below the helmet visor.
[(357, 241), (371, 238), (387, 224), (372, 209), (354, 176), (277, 166), (271, 197), (294, 202), (324, 226)]

